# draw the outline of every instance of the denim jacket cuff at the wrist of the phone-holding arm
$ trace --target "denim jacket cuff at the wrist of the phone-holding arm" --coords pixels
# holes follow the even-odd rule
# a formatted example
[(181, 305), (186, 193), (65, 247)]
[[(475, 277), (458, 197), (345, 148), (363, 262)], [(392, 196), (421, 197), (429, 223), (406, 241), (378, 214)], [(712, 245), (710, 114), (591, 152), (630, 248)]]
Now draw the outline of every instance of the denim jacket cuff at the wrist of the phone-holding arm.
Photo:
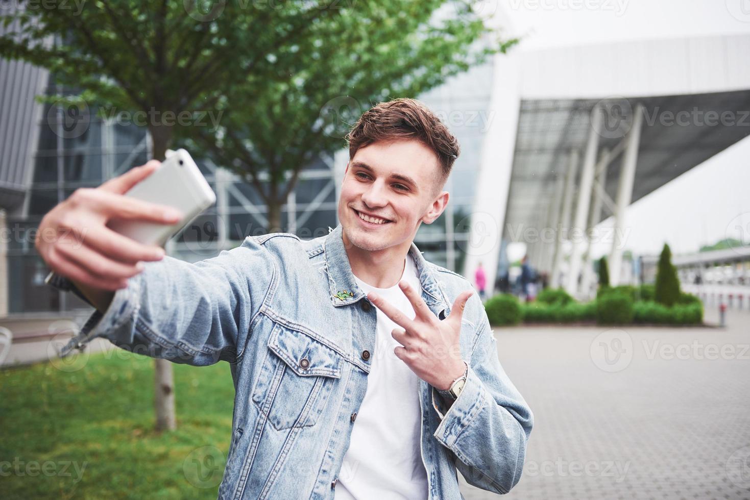
[[(141, 274), (130, 277), (127, 280), (127, 287), (118, 289), (115, 291), (115, 295), (110, 302), (110, 306), (107, 310), (102, 313), (100, 310), (95, 310), (89, 319), (84, 323), (83, 328), (80, 332), (73, 337), (65, 346), (62, 347), (58, 353), (60, 358), (70, 355), (74, 349), (83, 350), (86, 344), (95, 339), (95, 337), (102, 337), (107, 331), (113, 328), (118, 328), (122, 325), (130, 316), (133, 315), (138, 304), (138, 298), (140, 295), (140, 281)], [(44, 280), (50, 286), (55, 287), (58, 290), (64, 292), (74, 292), (77, 296), (86, 301), (87, 304), (94, 304), (87, 299), (79, 289), (68, 280), (68, 278), (56, 274), (54, 271), (49, 273)]]

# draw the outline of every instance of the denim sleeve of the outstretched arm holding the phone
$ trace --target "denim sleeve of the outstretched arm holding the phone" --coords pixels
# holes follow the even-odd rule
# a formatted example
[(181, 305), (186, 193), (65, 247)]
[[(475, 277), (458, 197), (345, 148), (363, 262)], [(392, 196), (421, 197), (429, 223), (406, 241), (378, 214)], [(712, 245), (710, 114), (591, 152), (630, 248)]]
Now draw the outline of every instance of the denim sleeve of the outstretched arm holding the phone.
[[(236, 362), (274, 274), (268, 250), (248, 237), (194, 264), (164, 256), (144, 266), (115, 292), (104, 313), (92, 313), (60, 355), (104, 337), (122, 349), (175, 363)], [(51, 273), (46, 281), (92, 304), (67, 278)]]

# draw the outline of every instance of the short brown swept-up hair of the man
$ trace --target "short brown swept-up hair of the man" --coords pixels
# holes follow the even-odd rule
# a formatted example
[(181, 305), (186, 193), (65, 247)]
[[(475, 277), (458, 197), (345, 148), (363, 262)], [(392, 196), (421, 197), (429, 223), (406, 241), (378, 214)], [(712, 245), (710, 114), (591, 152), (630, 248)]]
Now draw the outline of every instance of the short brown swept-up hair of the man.
[(389, 100), (362, 113), (347, 135), (349, 159), (354, 157), (359, 148), (375, 142), (399, 139), (419, 140), (436, 154), (441, 168), (442, 186), (460, 154), (460, 147), (448, 127), (419, 100)]

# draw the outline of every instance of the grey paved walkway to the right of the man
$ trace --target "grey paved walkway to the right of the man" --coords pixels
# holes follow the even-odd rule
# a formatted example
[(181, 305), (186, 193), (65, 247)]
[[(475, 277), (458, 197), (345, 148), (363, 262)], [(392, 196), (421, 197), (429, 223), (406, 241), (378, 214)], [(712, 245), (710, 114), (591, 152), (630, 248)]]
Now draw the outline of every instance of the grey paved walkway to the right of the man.
[[(727, 324), (496, 329), (535, 416), (502, 498), (750, 499), (750, 313)], [(497, 497), (459, 480), (466, 500)]]

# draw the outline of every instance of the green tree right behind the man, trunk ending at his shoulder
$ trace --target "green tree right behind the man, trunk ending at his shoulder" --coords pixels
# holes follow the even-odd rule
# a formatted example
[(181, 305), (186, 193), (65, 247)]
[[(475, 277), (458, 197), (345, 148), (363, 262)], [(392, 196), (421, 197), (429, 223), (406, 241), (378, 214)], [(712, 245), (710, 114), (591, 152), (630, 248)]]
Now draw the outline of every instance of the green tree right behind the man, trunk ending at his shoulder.
[[(446, 7), (455, 15), (440, 20)], [(462, 1), (344, 5), (295, 40), (259, 51), (263, 64), (255, 70), (239, 64), (244, 79), (217, 103), (219, 130), (181, 132), (191, 149), (252, 184), (268, 207), (267, 229), (281, 230), (281, 208), (299, 173), (340, 150), (365, 109), (417, 97), (516, 41), (500, 40)]]

